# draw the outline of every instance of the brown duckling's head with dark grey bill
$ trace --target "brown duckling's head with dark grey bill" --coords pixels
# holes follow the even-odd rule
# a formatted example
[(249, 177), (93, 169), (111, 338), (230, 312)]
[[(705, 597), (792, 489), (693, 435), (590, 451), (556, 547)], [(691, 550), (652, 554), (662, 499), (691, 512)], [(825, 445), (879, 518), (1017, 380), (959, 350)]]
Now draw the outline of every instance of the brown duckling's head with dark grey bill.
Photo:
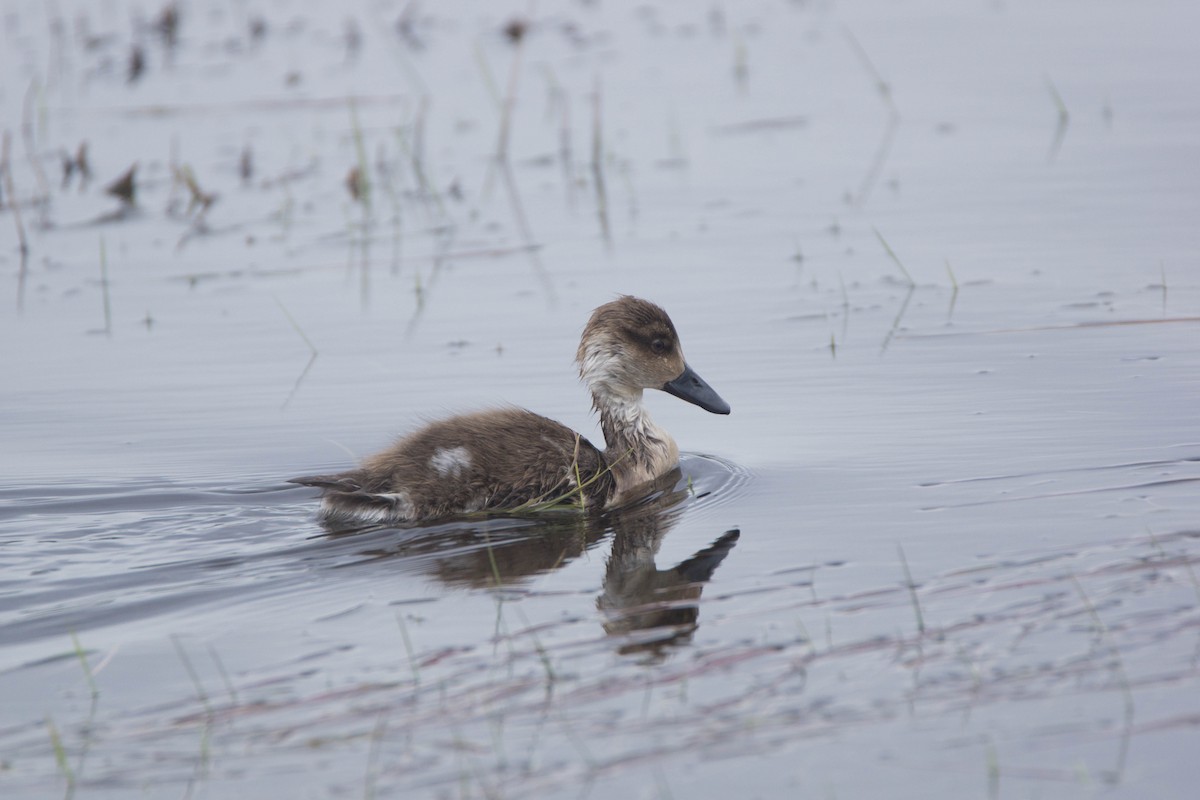
[(659, 389), (713, 414), (728, 414), (704, 379), (688, 366), (667, 312), (624, 295), (592, 312), (575, 356), (598, 404), (636, 401)]

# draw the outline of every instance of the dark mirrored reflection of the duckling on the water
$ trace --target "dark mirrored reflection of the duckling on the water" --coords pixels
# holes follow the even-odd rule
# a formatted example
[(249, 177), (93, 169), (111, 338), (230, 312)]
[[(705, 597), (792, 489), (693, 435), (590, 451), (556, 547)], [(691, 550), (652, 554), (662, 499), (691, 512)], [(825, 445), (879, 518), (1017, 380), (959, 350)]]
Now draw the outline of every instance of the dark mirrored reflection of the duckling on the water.
[[(452, 588), (517, 588), (528, 578), (560, 569), (612, 534), (604, 589), (596, 599), (604, 630), (618, 651), (655, 661), (668, 648), (686, 644), (698, 626), (704, 584), (737, 543), (727, 530), (691, 558), (661, 570), (655, 557), (666, 534), (686, 510), (691, 488), (679, 469), (655, 481), (643, 500), (604, 513), (536, 521), (485, 519), (476, 524), (428, 528), (337, 529), (329, 537), (354, 542), (361, 563), (395, 560), (402, 569), (437, 578)], [(362, 548), (361, 545), (368, 543)], [(343, 563), (344, 564), (344, 563)]]

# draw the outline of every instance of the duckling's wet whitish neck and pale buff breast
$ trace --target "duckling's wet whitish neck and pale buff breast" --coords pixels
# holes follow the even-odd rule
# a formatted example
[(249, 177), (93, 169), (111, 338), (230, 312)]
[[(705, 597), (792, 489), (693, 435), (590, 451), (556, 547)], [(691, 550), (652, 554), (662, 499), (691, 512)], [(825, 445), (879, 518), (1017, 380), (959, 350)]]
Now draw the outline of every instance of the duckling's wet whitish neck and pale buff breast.
[(593, 392), (600, 429), (607, 446), (605, 461), (616, 482), (613, 503), (679, 463), (679, 447), (642, 405), (642, 390), (629, 393)]

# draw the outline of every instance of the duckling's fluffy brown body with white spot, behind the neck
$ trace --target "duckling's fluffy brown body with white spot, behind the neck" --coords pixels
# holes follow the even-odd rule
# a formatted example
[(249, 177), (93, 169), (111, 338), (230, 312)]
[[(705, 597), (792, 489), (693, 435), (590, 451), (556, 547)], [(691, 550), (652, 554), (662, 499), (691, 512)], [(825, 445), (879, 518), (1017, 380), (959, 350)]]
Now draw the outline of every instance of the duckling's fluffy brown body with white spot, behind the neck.
[(564, 495), (602, 507), (612, 494), (604, 453), (524, 409), (433, 422), (338, 475), (295, 479), (325, 489), (322, 512), (343, 521), (412, 523), (514, 510)]

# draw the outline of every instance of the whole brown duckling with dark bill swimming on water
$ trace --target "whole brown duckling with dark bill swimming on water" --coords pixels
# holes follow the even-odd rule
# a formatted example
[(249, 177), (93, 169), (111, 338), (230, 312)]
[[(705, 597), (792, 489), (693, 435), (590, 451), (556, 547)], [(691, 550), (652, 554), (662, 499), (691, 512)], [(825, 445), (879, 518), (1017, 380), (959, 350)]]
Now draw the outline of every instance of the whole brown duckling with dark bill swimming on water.
[(322, 489), (328, 524), (412, 525), (564, 504), (602, 512), (678, 468), (679, 447), (650, 419), (644, 390), (730, 413), (688, 365), (666, 311), (648, 300), (623, 295), (593, 311), (575, 361), (604, 450), (540, 414), (498, 408), (428, 423), (356, 469), (290, 482)]

